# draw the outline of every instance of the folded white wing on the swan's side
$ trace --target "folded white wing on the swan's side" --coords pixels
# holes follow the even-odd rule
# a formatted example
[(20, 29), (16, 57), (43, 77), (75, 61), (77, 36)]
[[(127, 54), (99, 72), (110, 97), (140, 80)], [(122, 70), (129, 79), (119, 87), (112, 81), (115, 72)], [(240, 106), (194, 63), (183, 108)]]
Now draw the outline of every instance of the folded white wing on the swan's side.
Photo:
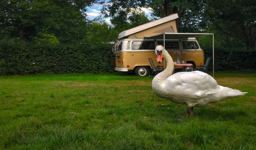
[(169, 88), (168, 91), (172, 91), (172, 94), (191, 99), (215, 94), (215, 89), (219, 88), (212, 76), (201, 71), (176, 73), (169, 76), (165, 83), (166, 88)]

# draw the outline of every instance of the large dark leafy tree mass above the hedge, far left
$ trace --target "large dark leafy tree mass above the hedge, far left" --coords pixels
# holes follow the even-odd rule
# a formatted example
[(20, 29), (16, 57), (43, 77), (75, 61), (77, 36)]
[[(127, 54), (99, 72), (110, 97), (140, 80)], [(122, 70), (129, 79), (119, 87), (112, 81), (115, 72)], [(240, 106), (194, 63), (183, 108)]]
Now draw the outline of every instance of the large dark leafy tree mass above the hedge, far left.
[[(95, 0), (0, 0), (0, 34), (24, 44), (73, 43), (84, 36)], [(1, 39), (0, 39), (1, 40)]]

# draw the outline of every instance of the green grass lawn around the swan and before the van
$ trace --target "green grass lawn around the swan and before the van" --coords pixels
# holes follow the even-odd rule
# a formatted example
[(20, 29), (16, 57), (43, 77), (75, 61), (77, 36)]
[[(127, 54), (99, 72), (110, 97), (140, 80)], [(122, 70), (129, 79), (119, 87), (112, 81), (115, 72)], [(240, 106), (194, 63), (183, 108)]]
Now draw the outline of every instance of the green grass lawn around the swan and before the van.
[(255, 72), (216, 72), (247, 95), (195, 108), (156, 96), (150, 77), (0, 76), (0, 149), (255, 150)]

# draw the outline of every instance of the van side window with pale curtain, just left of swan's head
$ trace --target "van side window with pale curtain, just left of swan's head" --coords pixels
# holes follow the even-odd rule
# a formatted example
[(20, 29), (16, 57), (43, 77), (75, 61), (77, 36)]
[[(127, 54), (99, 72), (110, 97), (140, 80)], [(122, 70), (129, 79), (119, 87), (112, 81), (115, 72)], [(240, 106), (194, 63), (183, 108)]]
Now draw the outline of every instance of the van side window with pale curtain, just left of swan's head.
[(156, 48), (154, 41), (134, 41), (131, 43), (131, 49), (133, 50), (154, 50)]

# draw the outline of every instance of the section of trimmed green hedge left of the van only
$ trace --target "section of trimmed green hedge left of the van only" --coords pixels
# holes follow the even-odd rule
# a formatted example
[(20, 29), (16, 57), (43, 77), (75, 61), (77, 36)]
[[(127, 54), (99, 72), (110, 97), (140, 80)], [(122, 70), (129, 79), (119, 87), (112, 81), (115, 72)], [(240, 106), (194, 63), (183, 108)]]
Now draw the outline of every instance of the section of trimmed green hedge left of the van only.
[(113, 72), (112, 45), (0, 48), (0, 75)]

